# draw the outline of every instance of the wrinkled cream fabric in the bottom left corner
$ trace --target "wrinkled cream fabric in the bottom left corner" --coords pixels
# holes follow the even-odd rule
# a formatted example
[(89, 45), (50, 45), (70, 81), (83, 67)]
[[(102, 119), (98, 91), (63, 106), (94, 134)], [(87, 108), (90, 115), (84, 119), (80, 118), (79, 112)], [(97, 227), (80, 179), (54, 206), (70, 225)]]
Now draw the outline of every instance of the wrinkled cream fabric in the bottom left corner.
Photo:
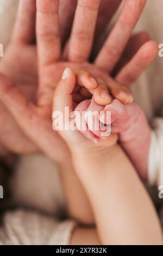
[(16, 210), (4, 215), (0, 245), (68, 245), (76, 223), (59, 222), (36, 211)]

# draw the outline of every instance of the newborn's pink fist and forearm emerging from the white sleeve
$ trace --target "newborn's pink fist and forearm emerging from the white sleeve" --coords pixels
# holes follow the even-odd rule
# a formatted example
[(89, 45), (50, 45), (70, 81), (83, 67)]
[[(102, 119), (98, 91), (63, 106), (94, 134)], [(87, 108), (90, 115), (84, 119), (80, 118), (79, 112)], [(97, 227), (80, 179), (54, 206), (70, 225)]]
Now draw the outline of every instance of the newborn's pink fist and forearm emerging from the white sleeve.
[[(137, 172), (141, 178), (147, 179), (151, 127), (142, 109), (136, 105), (136, 103), (124, 105), (114, 99), (109, 105), (103, 107), (97, 104), (95, 97), (92, 97), (92, 100), (81, 102), (76, 107), (76, 111), (80, 113), (83, 111), (97, 111), (97, 118), (95, 119), (93, 129), (91, 119), (89, 120), (89, 118), (87, 118), (85, 119), (85, 123), (90, 130), (83, 131), (78, 126), (80, 132), (87, 138), (96, 138), (94, 142), (98, 143), (100, 138), (106, 139), (107, 135), (104, 137), (104, 131), (101, 129), (96, 130), (95, 127), (98, 127), (101, 123), (111, 125), (111, 132), (118, 133), (121, 146), (134, 164)], [(101, 111), (103, 115), (100, 115)], [(111, 120), (107, 119), (107, 112), (111, 112)]]

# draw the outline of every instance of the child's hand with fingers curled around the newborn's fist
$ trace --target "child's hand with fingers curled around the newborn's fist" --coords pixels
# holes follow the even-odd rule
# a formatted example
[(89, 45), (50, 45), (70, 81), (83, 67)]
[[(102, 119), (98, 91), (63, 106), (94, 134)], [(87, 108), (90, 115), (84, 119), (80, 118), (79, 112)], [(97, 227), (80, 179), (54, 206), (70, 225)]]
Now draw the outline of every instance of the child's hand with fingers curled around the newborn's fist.
[[(58, 130), (61, 137), (64, 138), (69, 147), (73, 149), (79, 147), (82, 148), (83, 145), (84, 147), (95, 147), (92, 142), (95, 142), (96, 144), (99, 142), (99, 138), (89, 131), (87, 126), (84, 127), (85, 130), (82, 131), (85, 137), (77, 130), (79, 119), (81, 117), (80, 105), (77, 106), (77, 102), (73, 99), (73, 94), (76, 92), (77, 88), (79, 86), (85, 86), (85, 88), (89, 90), (89, 93), (93, 95), (93, 98), (96, 101), (101, 102), (101, 105), (96, 103), (96, 106), (98, 107), (96, 109), (97, 111), (101, 107), (104, 109), (106, 102), (111, 102), (111, 97), (108, 94), (105, 83), (101, 82), (101, 80), (96, 80), (96, 84), (94, 83), (92, 86), (92, 84), (88, 84), (86, 80), (85, 83), (81, 82), (83, 77), (86, 77), (84, 71), (75, 75), (70, 68), (66, 68), (55, 89), (53, 99), (53, 127), (55, 130)], [(101, 94), (105, 96), (105, 101), (103, 102), (100, 97)], [(90, 105), (90, 100), (85, 100), (81, 104), (83, 109), (86, 110)], [(76, 113), (78, 113), (78, 115), (76, 115)], [(85, 123), (85, 118), (80, 120)], [(60, 121), (61, 123), (59, 123)], [(87, 138), (89, 138), (89, 140)], [(117, 136), (111, 135), (107, 142), (102, 141), (99, 145), (109, 147), (109, 145), (115, 144), (116, 141)]]

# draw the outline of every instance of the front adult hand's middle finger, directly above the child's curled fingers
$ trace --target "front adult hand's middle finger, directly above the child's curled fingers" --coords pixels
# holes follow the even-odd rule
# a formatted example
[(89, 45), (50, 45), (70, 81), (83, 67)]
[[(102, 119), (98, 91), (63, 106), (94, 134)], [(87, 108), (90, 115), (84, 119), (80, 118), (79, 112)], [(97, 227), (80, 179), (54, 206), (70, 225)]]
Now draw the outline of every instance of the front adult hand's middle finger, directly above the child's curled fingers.
[(67, 59), (84, 62), (90, 55), (101, 0), (78, 0), (72, 32), (66, 50)]

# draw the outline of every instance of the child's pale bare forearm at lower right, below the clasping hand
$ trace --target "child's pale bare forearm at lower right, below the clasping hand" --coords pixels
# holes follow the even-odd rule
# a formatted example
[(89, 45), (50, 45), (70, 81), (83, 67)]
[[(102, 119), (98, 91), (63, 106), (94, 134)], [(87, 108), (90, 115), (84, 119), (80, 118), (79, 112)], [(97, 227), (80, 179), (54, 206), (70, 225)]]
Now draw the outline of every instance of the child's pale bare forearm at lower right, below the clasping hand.
[(97, 154), (74, 153), (103, 244), (160, 244), (156, 212), (133, 166), (116, 145)]

